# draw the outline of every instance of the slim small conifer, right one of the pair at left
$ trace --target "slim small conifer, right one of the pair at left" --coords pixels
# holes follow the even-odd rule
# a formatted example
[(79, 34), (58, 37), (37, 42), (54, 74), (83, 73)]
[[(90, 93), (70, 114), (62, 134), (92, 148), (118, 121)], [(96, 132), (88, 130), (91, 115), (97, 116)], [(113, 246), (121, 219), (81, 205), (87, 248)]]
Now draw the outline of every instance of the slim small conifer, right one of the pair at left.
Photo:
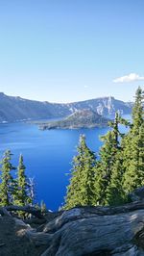
[(28, 196), (28, 179), (25, 174), (26, 167), (23, 163), (23, 156), (19, 157), (19, 165), (17, 167), (16, 189), (14, 193), (14, 204), (25, 206), (29, 204), (30, 198)]

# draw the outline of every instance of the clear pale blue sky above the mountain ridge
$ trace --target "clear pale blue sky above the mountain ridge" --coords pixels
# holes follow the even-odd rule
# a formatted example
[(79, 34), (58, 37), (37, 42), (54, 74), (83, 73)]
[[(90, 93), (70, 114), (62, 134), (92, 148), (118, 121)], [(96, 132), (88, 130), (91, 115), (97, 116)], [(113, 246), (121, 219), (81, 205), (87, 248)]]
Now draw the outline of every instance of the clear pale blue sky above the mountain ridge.
[[(113, 82), (131, 73), (138, 79)], [(143, 77), (143, 0), (0, 0), (0, 91), (132, 100)]]

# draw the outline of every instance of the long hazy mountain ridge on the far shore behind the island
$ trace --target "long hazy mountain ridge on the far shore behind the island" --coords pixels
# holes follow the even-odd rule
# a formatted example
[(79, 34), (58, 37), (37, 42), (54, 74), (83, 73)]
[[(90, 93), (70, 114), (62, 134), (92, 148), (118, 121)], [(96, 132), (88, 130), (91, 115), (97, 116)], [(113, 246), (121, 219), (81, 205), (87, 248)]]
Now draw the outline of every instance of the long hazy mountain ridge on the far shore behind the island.
[(119, 111), (122, 115), (129, 115), (132, 112), (132, 103), (117, 100), (114, 97), (102, 97), (59, 104), (8, 96), (0, 92), (1, 123), (66, 117), (84, 109), (94, 111), (106, 117), (113, 116), (116, 111)]

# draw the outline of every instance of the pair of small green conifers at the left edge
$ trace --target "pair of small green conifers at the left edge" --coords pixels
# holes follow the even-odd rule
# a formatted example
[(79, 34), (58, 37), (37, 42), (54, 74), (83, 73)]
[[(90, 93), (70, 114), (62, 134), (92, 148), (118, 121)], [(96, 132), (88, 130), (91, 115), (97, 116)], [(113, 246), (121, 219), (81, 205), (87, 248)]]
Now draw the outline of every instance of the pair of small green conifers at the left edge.
[[(32, 205), (30, 182), (25, 174), (26, 167), (23, 163), (23, 156), (19, 157), (16, 177), (12, 170), (16, 169), (11, 163), (12, 153), (6, 151), (1, 162), (0, 173), (0, 206), (8, 205)], [(14, 173), (13, 173), (14, 174)], [(19, 216), (23, 215), (22, 213)]]

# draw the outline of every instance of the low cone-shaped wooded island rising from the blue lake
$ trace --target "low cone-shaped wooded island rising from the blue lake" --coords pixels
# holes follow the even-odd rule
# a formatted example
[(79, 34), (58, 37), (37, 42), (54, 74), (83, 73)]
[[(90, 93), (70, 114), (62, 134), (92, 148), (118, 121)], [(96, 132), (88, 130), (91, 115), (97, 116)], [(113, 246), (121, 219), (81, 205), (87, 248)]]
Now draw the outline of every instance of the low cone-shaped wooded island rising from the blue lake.
[(63, 120), (47, 121), (39, 124), (40, 130), (82, 129), (108, 126), (109, 119), (92, 110), (78, 110)]

